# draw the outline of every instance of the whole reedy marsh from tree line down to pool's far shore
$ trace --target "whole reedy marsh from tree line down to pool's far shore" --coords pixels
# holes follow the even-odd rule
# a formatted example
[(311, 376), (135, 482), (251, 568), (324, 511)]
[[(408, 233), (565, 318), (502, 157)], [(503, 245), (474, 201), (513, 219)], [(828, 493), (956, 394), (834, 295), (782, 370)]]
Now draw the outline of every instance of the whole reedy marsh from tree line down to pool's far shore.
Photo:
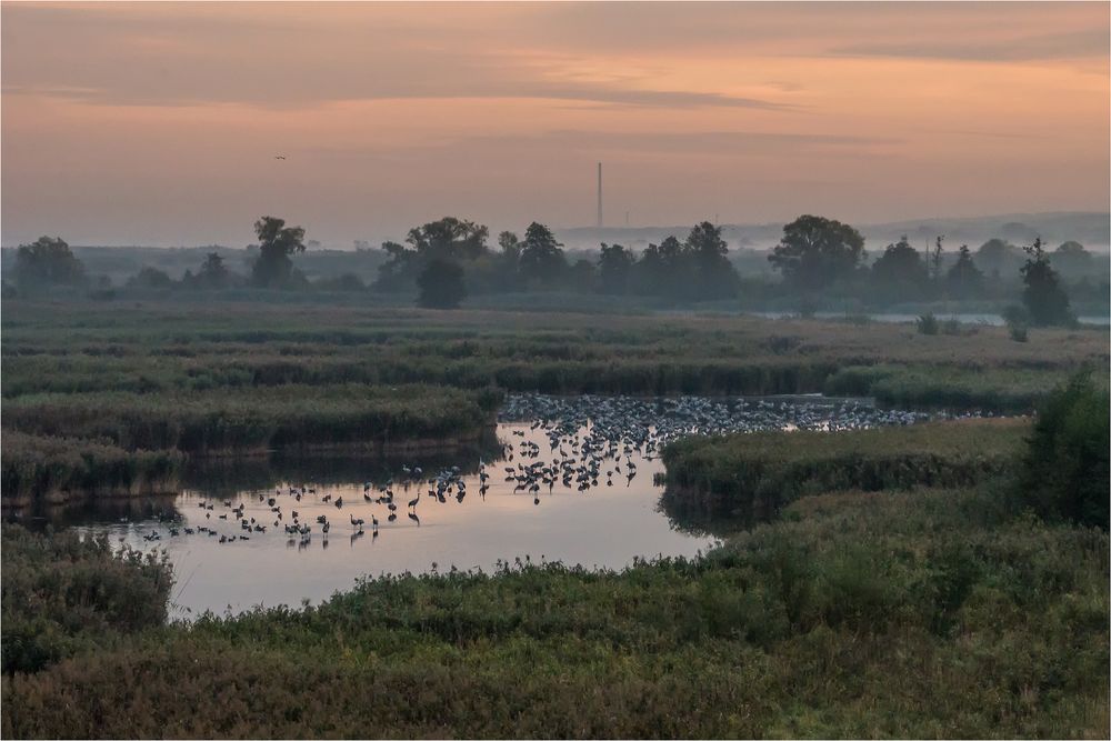
[[(1105, 378), (1108, 368), (1105, 332), (1093, 329), (1035, 331), (1020, 343), (1003, 328), (927, 337), (907, 324), (738, 317), (274, 303), (2, 308), (2, 423), (27, 435), (4, 443), (6, 498), (81, 481), (102, 490), (172, 481), (162, 478), (170, 469), (147, 473), (153, 459), (143, 451), (473, 440), (503, 391), (824, 391), (897, 407), (1022, 412), (1075, 369)], [(64, 455), (59, 440), (70, 441)], [(79, 461), (72, 453), (82, 447)], [(114, 472), (107, 460), (117, 461)]]

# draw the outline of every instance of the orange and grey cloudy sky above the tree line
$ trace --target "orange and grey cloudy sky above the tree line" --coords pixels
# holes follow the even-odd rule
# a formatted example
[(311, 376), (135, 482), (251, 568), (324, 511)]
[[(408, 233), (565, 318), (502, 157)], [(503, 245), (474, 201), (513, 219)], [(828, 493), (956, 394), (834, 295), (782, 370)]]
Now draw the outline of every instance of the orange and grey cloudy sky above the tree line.
[(0, 238), (1103, 211), (1109, 8), (3, 2)]

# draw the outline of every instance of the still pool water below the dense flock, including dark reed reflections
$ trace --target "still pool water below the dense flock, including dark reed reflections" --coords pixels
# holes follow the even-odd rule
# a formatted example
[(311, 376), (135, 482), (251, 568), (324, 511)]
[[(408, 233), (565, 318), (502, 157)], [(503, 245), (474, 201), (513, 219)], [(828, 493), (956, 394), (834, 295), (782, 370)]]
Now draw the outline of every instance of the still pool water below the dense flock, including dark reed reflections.
[[(217, 464), (192, 477), (201, 483), (186, 488), (178, 497), (114, 502), (100, 505), (96, 512), (71, 513), (70, 518), (83, 534), (107, 533), (113, 543), (164, 550), (177, 580), (172, 613), (181, 618), (204, 610), (238, 612), (257, 604), (319, 603), (337, 590), (350, 589), (364, 575), (443, 572), (452, 567), (490, 571), (499, 561), (527, 557), (533, 562), (621, 569), (638, 557), (692, 557), (714, 543), (712, 538), (678, 529), (659, 510), (662, 489), (653, 484), (653, 477), (663, 467), (654, 455), (633, 450), (607, 461), (599, 485), (584, 491), (574, 481), (563, 485), (558, 479), (550, 490), (544, 484), (533, 494), (520, 489), (518, 481), (506, 480), (506, 467), (516, 468), (523, 458), (520, 453), (513, 461), (502, 458), (510, 453), (502, 453), (500, 443), (512, 443), (518, 450), (524, 448), (522, 443), (534, 443), (547, 454), (549, 438), (528, 423), (499, 424), (497, 435), (499, 444), (453, 459), (314, 459), (279, 469), (277, 478), (272, 470), (236, 471), (234, 464)], [(483, 457), (489, 478), (487, 491), (480, 494)], [(635, 467), (631, 479), (630, 460)], [(422, 463), (420, 474), (417, 463)], [(615, 464), (621, 465), (621, 474), (607, 477), (604, 471)], [(452, 488), (441, 502), (429, 495), (428, 479), (450, 467), (459, 468), (466, 494), (460, 500)], [(387, 504), (366, 499), (382, 497), (381, 488), (389, 479), (397, 507), (393, 521)], [(607, 485), (608, 481), (612, 484)], [(373, 483), (369, 491), (364, 491), (367, 482)], [(300, 501), (289, 493), (290, 487), (298, 491), (304, 488)], [(310, 489), (314, 493), (309, 493)], [(276, 495), (277, 490), (282, 493)], [(418, 497), (419, 503), (409, 509), (408, 502)], [(281, 509), (281, 521), (269, 504), (271, 498)], [(342, 505), (337, 507), (340, 498)], [(243, 508), (241, 517), (249, 523), (254, 518), (266, 532), (253, 527), (243, 530), (240, 515), (232, 512), (239, 505)], [(294, 510), (299, 521), (311, 527), (308, 538), (284, 531)], [(327, 535), (317, 521), (320, 515), (331, 523)], [(377, 537), (370, 524), (372, 517), (380, 522)], [(351, 524), (352, 518), (366, 521), (361, 534), (360, 528)], [(179, 534), (171, 535), (170, 528)], [(198, 528), (217, 534), (199, 532)], [(186, 529), (193, 533), (187, 534)], [(146, 540), (153, 532), (160, 540)], [(228, 540), (221, 543), (221, 535)]]

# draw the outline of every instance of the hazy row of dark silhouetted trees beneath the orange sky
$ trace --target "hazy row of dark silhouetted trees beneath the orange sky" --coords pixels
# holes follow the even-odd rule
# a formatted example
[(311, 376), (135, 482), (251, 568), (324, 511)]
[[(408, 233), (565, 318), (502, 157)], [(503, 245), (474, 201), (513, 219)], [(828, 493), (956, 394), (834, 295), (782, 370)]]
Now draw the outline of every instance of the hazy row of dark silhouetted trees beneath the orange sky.
[[(194, 270), (173, 280), (162, 270), (144, 267), (126, 288), (142, 290), (317, 289), (363, 291), (354, 274), (309, 281), (294, 264), (307, 246), (304, 229), (276, 217), (254, 223), (258, 244), (249, 248), (249, 272), (232, 271), (218, 252), (210, 252)], [(759, 279), (742, 280), (729, 259), (721, 229), (708, 221), (695, 224), (684, 239), (671, 236), (639, 254), (617, 243), (601, 243), (597, 258), (569, 257), (552, 230), (532, 222), (523, 238), (503, 231), (489, 244), (489, 229), (444, 217), (409, 230), (403, 243), (387, 241), (387, 260), (373, 289), (416, 293), (423, 307), (450, 309), (468, 296), (560, 291), (611, 297), (651, 297), (669, 302), (729, 300), (747, 291), (777, 291), (797, 297), (800, 308), (822, 297), (857, 297), (864, 306), (899, 302), (998, 299), (1004, 276), (1022, 283), (1023, 321), (1067, 324), (1073, 321), (1062, 282), (1067, 274), (1087, 276), (1093, 257), (1070, 241), (1049, 253), (1035, 239), (1018, 248), (1001, 239), (984, 242), (977, 252), (962, 244), (945, 253), (939, 236), (919, 251), (904, 236), (888, 244), (869, 264), (864, 238), (853, 227), (819, 216), (801, 216), (783, 227), (779, 244), (768, 254), (781, 276), (773, 288)], [(362, 249), (369, 248), (366, 243)], [(573, 256), (573, 253), (572, 253)], [(42, 237), (17, 251), (14, 286), (22, 292), (49, 286), (101, 289), (81, 261), (57, 237)], [(1083, 279), (1083, 280), (1087, 280)], [(1082, 283), (1081, 283), (1082, 284)], [(8, 283), (6, 282), (6, 293)]]

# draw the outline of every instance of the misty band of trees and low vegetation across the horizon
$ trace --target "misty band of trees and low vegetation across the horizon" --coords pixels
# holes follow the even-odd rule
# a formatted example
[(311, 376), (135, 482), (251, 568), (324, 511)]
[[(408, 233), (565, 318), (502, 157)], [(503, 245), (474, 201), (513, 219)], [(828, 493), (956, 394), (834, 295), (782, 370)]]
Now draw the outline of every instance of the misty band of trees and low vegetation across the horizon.
[[(379, 250), (364, 241), (357, 241), (353, 252), (321, 250), (319, 242), (304, 241), (302, 228), (284, 223), (276, 217), (257, 221), (259, 243), (246, 250), (78, 248), (78, 257), (61, 239), (43, 237), (13, 251), (16, 281), (4, 283), (3, 292), (41, 298), (46, 291), (70, 300), (72, 287), (80, 286), (89, 289), (88, 298), (103, 301), (188, 301), (208, 298), (198, 296), (203, 291), (221, 300), (411, 306), (416, 299), (417, 306), (443, 308), (474, 297), (471, 307), (508, 303), (517, 310), (536, 310), (534, 301), (552, 302), (553, 293), (562, 293), (572, 297), (575, 307), (615, 304), (620, 311), (735, 311), (741, 306), (905, 311), (898, 307), (910, 303), (914, 312), (990, 313), (1021, 297), (1038, 324), (1071, 323), (1070, 303), (1091, 313), (1108, 310), (1107, 258), (1075, 241), (1050, 253), (1037, 232), (1024, 227), (1009, 236), (1033, 240), (1030, 247), (992, 238), (974, 256), (968, 244), (947, 253), (944, 238), (938, 236), (920, 252), (904, 234), (882, 250), (873, 249), (878, 257), (869, 263), (857, 229), (811, 214), (785, 224), (770, 251), (749, 249), (747, 237), (731, 251), (724, 237), (729, 230), (705, 221), (685, 239), (657, 236), (659, 243), (650, 242), (639, 252), (605, 242), (568, 250), (539, 222), (529, 224), (523, 240), (502, 232), (496, 251), (487, 243), (486, 226), (456, 217), (410, 229), (404, 243), (386, 241)], [(1025, 264), (1023, 250), (1033, 256)], [(433, 263), (439, 267), (430, 273)], [(182, 273), (183, 264), (188, 267)], [(94, 279), (87, 277), (91, 266), (98, 271)], [(438, 278), (444, 270), (450, 277)], [(773, 279), (774, 271), (781, 280)], [(426, 284), (446, 283), (451, 290), (439, 299), (440, 291), (420, 288), (421, 276)], [(565, 301), (557, 306), (562, 309)]]

